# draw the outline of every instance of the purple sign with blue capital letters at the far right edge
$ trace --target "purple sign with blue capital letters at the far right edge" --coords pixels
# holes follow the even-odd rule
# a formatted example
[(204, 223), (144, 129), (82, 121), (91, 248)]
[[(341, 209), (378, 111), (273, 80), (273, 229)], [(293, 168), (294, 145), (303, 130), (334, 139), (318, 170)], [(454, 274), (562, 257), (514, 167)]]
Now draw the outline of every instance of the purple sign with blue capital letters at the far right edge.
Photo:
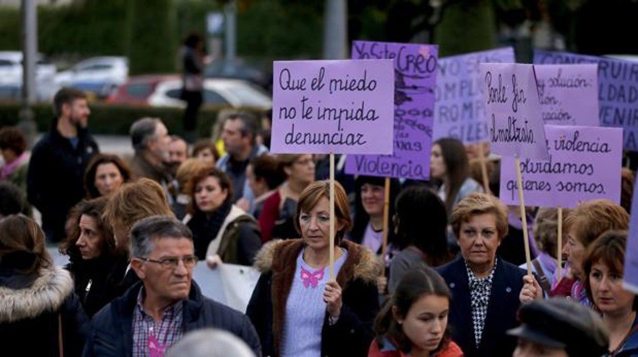
[(624, 128), (623, 148), (638, 151), (638, 63), (567, 52), (534, 51), (534, 63), (598, 64), (598, 121)]

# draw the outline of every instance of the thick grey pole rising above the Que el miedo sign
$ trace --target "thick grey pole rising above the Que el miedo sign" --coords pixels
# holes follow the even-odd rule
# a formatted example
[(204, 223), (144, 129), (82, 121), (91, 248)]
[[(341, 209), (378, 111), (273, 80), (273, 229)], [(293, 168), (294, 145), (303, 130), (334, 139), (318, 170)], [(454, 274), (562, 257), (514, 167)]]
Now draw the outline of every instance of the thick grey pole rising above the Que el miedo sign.
[(348, 57), (348, 1), (325, 0), (323, 22), (323, 58)]

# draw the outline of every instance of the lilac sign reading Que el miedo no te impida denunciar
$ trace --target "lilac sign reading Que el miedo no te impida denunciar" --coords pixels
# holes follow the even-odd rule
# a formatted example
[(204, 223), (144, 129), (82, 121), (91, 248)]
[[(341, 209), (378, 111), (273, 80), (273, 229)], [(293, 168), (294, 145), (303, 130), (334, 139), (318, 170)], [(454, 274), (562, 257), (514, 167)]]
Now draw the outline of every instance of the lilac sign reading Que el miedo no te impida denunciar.
[(273, 153), (392, 154), (394, 64), (275, 61)]

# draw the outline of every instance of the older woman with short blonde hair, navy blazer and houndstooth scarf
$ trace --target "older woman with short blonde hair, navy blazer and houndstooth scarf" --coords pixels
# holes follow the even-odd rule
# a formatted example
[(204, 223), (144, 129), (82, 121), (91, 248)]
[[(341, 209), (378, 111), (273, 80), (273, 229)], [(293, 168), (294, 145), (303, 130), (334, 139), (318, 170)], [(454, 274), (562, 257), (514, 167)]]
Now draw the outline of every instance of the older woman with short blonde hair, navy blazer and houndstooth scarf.
[(452, 339), (466, 356), (511, 356), (516, 338), (518, 292), (525, 271), (496, 256), (507, 235), (507, 208), (492, 195), (474, 193), (452, 211), (461, 255), (438, 272), (452, 291)]

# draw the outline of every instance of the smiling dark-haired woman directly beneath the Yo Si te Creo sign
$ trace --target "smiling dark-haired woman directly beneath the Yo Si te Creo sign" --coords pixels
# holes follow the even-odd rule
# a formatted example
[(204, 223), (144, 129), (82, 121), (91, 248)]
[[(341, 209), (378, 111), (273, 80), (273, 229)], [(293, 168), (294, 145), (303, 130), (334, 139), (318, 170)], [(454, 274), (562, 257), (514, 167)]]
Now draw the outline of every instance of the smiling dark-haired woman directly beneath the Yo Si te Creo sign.
[[(399, 180), (390, 179), (390, 212), (394, 215), (394, 205), (401, 185)], [(385, 178), (357, 176), (355, 179), (355, 215), (350, 240), (381, 253), (383, 243), (383, 204), (385, 200)], [(394, 241), (394, 227), (388, 225), (388, 243)]]

